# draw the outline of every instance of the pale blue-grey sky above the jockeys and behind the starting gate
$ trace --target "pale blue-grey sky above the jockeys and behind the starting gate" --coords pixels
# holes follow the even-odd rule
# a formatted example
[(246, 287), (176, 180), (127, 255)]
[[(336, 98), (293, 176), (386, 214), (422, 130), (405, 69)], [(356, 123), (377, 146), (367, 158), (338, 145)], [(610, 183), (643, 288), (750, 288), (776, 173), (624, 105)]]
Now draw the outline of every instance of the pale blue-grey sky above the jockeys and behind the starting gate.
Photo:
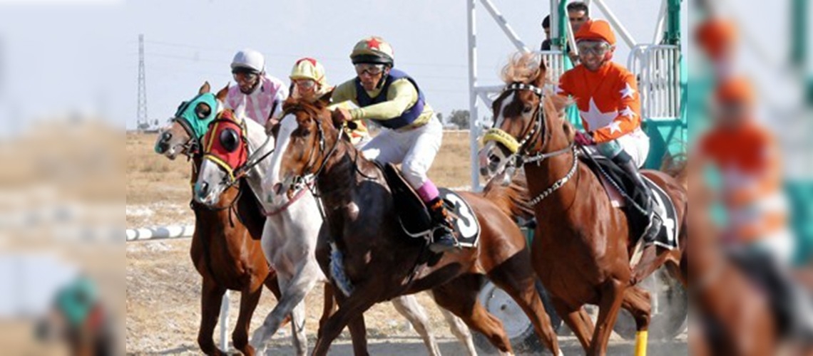
[[(134, 127), (139, 33), (146, 38), (149, 115), (162, 122), (204, 80), (224, 86), (238, 49), (259, 49), (267, 71), (280, 79), (297, 58), (318, 58), (338, 84), (353, 75), (347, 56), (355, 41), (371, 34), (393, 44), (397, 66), (418, 80), (438, 111), (468, 106), (463, 0), (9, 2), (0, 0), (0, 118), (6, 130), (68, 111), (101, 113)], [(651, 41), (659, 2), (607, 2), (637, 41)], [(494, 3), (537, 48), (547, 3)], [(594, 18), (603, 17), (592, 10)], [(478, 16), (480, 83), (497, 84), (514, 47), (482, 6)], [(626, 57), (620, 45), (616, 58)]]

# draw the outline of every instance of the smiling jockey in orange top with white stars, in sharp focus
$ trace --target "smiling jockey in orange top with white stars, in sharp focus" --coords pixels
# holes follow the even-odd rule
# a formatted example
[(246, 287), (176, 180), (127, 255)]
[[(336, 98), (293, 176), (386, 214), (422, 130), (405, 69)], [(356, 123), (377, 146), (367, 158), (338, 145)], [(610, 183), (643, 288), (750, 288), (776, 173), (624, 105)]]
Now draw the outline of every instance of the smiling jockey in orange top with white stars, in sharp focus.
[(650, 139), (641, 130), (641, 97), (635, 75), (612, 62), (615, 35), (602, 19), (588, 21), (576, 32), (576, 46), (581, 64), (565, 72), (556, 93), (576, 100), (586, 132), (577, 132), (575, 141), (583, 146), (596, 146), (632, 177), (646, 194), (641, 207), (650, 215), (644, 234), (648, 244), (663, 224), (665, 212), (654, 203), (653, 193), (638, 173), (650, 150)]

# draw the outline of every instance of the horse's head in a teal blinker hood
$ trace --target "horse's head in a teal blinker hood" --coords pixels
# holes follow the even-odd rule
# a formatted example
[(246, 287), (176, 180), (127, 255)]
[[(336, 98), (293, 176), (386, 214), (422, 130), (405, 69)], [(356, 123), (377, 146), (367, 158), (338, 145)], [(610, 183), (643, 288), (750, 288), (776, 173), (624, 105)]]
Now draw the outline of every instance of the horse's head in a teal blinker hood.
[(227, 93), (228, 86), (215, 95), (210, 92), (209, 83), (204, 83), (196, 97), (180, 103), (170, 124), (161, 129), (155, 139), (155, 152), (171, 160), (179, 154), (187, 157), (199, 154), (200, 141), (215, 116), (223, 111)]

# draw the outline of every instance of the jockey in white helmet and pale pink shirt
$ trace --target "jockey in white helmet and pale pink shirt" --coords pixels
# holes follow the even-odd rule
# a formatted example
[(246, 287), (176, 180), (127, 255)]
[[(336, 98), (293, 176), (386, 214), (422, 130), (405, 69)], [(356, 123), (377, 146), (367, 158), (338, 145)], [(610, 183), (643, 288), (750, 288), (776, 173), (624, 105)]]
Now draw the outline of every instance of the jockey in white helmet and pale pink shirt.
[(226, 109), (245, 109), (246, 116), (265, 126), (282, 112), (288, 89), (280, 79), (265, 74), (265, 58), (254, 49), (234, 55), (232, 75), (237, 85), (228, 88)]

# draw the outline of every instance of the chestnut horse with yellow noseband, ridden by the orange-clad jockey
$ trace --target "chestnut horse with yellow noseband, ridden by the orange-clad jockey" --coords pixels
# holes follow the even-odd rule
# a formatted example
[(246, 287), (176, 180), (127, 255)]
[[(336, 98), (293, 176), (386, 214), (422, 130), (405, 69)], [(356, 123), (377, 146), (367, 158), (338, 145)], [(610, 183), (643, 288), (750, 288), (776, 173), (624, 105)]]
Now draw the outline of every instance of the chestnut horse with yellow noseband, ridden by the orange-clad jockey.
[[(650, 295), (635, 283), (663, 264), (682, 278), (685, 228), (676, 237), (678, 249), (646, 247), (641, 262), (630, 266), (636, 246), (629, 243), (627, 217), (613, 208), (602, 183), (577, 157), (575, 131), (563, 114), (570, 101), (544, 89), (546, 70), (545, 62), (533, 54), (516, 55), (503, 70), (506, 90), (493, 102), (495, 122), (489, 132), (495, 139), (480, 149), (481, 173), (500, 173), (517, 158), (533, 162), (523, 165), (537, 216), (533, 267), (557, 314), (588, 354), (606, 354), (612, 326), (624, 307), (636, 321), (636, 355), (646, 354)], [(675, 202), (677, 221), (685, 227), (685, 189), (667, 174), (644, 174)], [(599, 307), (594, 329), (581, 311), (586, 303)]]

